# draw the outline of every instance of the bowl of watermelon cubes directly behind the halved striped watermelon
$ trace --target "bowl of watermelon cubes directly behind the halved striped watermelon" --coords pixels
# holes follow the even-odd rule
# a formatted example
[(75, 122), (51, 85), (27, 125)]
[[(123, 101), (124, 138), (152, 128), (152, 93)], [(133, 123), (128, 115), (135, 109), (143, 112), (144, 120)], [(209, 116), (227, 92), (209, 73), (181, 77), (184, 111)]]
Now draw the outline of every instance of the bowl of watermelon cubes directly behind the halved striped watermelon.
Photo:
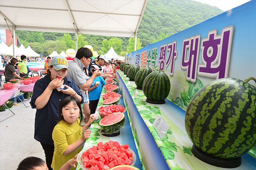
[(116, 112), (125, 113), (126, 109), (122, 105), (105, 105), (97, 108), (97, 111), (99, 112), (99, 116), (103, 119), (104, 117), (112, 113), (116, 113)]

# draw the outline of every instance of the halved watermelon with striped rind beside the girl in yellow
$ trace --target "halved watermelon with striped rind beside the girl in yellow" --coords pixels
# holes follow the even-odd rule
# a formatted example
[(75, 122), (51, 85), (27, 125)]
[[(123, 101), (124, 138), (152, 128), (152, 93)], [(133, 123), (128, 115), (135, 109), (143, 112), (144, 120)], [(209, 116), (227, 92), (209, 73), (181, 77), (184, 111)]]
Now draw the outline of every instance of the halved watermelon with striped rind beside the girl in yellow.
[(99, 126), (105, 133), (115, 133), (120, 130), (125, 124), (124, 113), (112, 113), (99, 122)]

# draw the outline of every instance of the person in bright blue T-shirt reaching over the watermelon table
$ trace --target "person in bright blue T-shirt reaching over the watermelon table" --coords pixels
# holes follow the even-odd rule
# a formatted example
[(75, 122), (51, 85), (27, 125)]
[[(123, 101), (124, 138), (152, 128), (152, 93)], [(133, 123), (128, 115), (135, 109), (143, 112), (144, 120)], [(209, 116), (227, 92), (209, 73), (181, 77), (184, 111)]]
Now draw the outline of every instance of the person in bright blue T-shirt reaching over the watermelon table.
[[(93, 71), (92, 71), (93, 72)], [(108, 83), (111, 84), (113, 80)], [(90, 114), (95, 113), (97, 105), (99, 103), (100, 94), (102, 92), (102, 86), (105, 85), (106, 82), (102, 76), (95, 77), (93, 79), (93, 83), (88, 89), (89, 92), (89, 106), (90, 106)]]

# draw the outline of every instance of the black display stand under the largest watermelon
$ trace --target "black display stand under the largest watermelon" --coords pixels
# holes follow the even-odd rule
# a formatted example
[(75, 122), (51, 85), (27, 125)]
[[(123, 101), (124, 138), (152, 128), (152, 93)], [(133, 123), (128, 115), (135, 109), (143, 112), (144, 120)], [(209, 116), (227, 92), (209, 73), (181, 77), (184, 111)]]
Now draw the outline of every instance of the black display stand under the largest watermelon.
[(207, 153), (204, 153), (203, 151), (198, 149), (195, 145), (192, 146), (192, 153), (195, 155), (195, 157), (197, 157), (201, 161), (204, 161), (207, 164), (211, 164), (216, 167), (235, 168), (241, 165), (241, 157), (233, 158), (233, 159), (217, 158), (215, 156), (210, 156)]

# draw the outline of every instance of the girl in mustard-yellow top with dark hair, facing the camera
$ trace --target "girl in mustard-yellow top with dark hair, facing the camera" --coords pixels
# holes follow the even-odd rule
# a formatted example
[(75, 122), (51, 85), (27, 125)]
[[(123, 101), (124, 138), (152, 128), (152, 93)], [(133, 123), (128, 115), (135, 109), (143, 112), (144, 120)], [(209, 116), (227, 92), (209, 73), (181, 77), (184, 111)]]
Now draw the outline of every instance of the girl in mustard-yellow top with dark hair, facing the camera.
[[(51, 167), (53, 170), (59, 170), (62, 165), (82, 150), (82, 144), (90, 137), (90, 130), (87, 128), (95, 120), (90, 118), (86, 125), (81, 126), (84, 119), (81, 104), (73, 96), (62, 99), (58, 109), (59, 122), (52, 131), (54, 154)], [(71, 170), (74, 169), (71, 168)]]

